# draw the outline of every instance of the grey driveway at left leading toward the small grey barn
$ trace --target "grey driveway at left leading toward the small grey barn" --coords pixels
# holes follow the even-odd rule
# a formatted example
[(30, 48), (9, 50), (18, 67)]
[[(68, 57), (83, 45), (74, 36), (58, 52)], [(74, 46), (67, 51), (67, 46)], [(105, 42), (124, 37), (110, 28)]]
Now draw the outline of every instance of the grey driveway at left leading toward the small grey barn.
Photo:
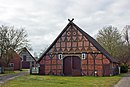
[(9, 75), (5, 75), (5, 76), (0, 76), (0, 84), (3, 84), (8, 80), (14, 79), (14, 78), (19, 77), (19, 76), (24, 76), (27, 74), (28, 74), (28, 72), (20, 72), (17, 74), (9, 74)]

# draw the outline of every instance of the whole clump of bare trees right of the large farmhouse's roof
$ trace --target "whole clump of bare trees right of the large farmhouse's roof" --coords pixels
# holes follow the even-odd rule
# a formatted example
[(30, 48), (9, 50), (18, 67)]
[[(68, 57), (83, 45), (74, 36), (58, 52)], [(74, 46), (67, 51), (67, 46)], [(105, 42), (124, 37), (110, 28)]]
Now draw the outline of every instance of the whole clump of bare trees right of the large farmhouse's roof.
[(130, 65), (128, 29), (126, 29), (124, 35), (121, 35), (116, 27), (104, 27), (98, 32), (96, 39), (113, 58), (116, 58), (120, 63)]

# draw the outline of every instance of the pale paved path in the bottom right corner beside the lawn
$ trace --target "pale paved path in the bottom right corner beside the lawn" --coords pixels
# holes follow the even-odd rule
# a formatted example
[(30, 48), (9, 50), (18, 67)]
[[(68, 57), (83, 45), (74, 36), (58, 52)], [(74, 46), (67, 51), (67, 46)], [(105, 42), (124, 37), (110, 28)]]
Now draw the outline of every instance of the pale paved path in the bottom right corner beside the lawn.
[(114, 87), (130, 87), (130, 74), (123, 77)]

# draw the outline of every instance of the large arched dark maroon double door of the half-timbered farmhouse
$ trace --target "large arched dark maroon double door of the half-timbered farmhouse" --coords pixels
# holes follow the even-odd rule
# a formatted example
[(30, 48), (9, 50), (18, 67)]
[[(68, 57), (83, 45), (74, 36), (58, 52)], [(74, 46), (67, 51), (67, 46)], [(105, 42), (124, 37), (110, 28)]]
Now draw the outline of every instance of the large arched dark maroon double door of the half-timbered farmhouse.
[(81, 75), (81, 59), (78, 56), (67, 56), (63, 59), (63, 73), (67, 76)]

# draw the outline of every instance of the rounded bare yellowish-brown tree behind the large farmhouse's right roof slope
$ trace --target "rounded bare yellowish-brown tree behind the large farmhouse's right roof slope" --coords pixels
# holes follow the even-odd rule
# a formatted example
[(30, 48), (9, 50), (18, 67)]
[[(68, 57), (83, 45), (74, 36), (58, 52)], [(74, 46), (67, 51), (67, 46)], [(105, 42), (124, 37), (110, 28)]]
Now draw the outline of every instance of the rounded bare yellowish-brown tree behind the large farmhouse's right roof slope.
[(113, 56), (118, 55), (118, 47), (122, 45), (121, 34), (116, 27), (107, 26), (99, 30), (96, 40)]

